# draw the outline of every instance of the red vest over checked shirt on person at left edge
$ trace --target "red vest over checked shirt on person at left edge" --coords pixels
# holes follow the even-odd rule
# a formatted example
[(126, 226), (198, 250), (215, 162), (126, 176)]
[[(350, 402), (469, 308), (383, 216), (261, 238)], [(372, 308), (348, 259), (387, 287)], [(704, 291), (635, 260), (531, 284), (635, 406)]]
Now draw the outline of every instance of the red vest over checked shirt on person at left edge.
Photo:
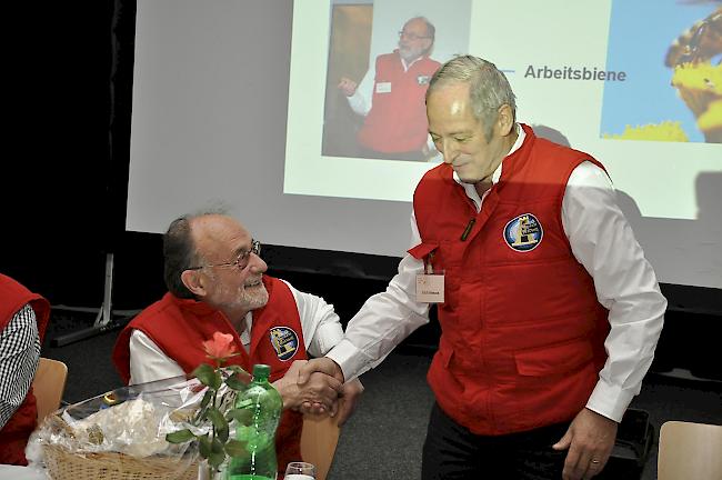
[[(40, 343), (46, 334), (48, 319), (50, 318), (50, 303), (48, 300), (11, 279), (0, 273), (0, 331), (10, 323), (12, 317), (30, 303), (36, 312)], [(26, 446), (30, 433), (38, 422), (38, 409), (32, 387), (18, 410), (10, 417), (8, 423), (0, 430), (0, 463), (27, 466)]]

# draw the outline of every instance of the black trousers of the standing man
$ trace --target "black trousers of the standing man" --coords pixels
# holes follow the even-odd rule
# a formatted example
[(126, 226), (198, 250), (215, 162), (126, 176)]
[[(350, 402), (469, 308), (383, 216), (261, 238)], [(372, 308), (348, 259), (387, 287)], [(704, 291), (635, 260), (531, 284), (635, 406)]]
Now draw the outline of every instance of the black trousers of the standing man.
[(566, 451), (553, 450), (552, 444), (568, 427), (564, 422), (521, 433), (478, 436), (434, 403), (423, 444), (421, 479), (559, 480)]

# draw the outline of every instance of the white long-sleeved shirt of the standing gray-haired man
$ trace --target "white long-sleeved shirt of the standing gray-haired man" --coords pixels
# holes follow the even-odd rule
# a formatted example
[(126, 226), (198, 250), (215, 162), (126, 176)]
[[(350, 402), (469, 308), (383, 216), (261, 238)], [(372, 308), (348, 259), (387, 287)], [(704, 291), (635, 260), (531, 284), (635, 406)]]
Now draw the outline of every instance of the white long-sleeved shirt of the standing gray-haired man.
[[(525, 133), (509, 154), (518, 150)], [(492, 176), (497, 183), (503, 161)], [(454, 180), (461, 183), (454, 173)], [(461, 183), (481, 210), (474, 186)], [(652, 267), (644, 258), (606, 173), (582, 162), (569, 178), (562, 201), (562, 224), (572, 253), (594, 279), (599, 302), (609, 310), (611, 330), (604, 342), (608, 359), (586, 407), (621, 421), (654, 357), (662, 330), (666, 300)], [(411, 216), (411, 247), (421, 243), (415, 217)], [(429, 304), (415, 301), (415, 279), (423, 262), (405, 254), (385, 292), (371, 297), (351, 319), (344, 339), (327, 357), (334, 360), (347, 380), (373, 368), (413, 330), (429, 321)]]

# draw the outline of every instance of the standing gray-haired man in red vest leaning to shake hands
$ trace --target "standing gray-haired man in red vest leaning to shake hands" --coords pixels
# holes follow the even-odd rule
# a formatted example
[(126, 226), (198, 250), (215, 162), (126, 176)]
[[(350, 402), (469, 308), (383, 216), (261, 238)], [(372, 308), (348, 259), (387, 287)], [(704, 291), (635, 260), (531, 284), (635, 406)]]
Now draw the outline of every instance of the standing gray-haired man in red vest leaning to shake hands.
[(355, 378), (435, 303), (422, 479), (598, 476), (662, 329), (654, 271), (602, 164), (518, 123), (494, 64), (445, 63), (427, 111), (444, 162), (414, 192), (411, 249), (300, 381)]

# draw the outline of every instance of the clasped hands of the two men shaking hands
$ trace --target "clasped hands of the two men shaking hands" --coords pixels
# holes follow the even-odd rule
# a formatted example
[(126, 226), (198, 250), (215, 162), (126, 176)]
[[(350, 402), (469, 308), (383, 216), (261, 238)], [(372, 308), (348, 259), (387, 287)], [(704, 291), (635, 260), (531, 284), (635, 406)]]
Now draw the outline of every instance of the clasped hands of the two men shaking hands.
[(338, 417), (339, 426), (353, 413), (363, 392), (359, 379), (344, 383), (341, 368), (325, 357), (294, 361), (285, 374), (273, 382), (273, 387), (283, 398), (283, 409)]

